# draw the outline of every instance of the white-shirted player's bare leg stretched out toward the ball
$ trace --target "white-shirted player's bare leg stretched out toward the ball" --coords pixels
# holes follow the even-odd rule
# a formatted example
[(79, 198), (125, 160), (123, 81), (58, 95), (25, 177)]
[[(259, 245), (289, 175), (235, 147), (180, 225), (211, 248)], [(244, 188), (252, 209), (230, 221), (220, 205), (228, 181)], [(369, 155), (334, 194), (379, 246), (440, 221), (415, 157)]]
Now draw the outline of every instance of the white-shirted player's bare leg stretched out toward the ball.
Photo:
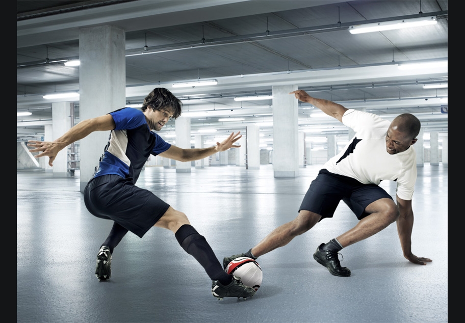
[(286, 246), (296, 236), (307, 232), (320, 221), (321, 216), (306, 210), (301, 210), (297, 218), (283, 224), (268, 234), (259, 244), (252, 248), (255, 257), (262, 256), (276, 248)]

